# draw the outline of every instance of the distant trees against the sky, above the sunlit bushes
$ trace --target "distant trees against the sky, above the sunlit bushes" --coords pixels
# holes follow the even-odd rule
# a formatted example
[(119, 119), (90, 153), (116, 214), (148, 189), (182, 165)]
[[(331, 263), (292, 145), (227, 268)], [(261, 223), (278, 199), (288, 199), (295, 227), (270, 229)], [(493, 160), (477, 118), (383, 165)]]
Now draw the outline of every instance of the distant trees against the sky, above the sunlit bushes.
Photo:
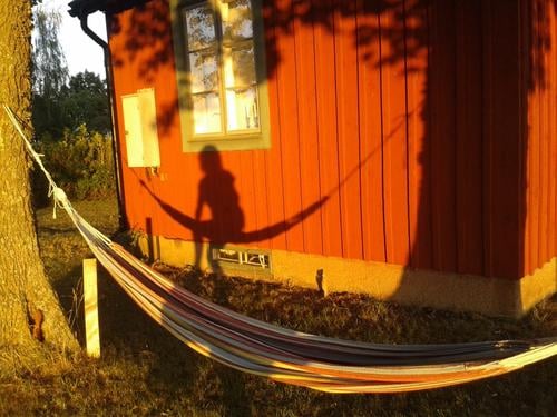
[(36, 136), (58, 140), (63, 130), (86, 125), (89, 131), (110, 132), (106, 82), (94, 72), (69, 76), (58, 40), (61, 16), (35, 11), (32, 122)]

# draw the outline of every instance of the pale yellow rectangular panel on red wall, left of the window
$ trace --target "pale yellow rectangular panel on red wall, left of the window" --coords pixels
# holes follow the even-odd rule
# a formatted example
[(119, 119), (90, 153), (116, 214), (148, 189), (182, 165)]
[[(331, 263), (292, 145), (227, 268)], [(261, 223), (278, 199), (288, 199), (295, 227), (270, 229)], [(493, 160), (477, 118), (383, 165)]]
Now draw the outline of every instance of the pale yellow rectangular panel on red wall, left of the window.
[(155, 90), (123, 96), (121, 105), (128, 167), (160, 166)]

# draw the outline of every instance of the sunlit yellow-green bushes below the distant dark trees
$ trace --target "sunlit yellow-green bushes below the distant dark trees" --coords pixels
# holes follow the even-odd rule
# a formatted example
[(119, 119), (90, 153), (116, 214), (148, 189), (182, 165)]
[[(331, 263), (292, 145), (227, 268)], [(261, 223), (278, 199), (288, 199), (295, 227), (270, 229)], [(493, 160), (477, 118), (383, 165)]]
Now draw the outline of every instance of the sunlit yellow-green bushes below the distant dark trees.
[[(74, 199), (98, 199), (115, 192), (114, 156), (110, 136), (91, 132), (85, 125), (66, 129), (60, 140), (43, 137), (39, 150), (57, 185)], [(33, 175), (36, 203), (45, 191), (41, 172)]]

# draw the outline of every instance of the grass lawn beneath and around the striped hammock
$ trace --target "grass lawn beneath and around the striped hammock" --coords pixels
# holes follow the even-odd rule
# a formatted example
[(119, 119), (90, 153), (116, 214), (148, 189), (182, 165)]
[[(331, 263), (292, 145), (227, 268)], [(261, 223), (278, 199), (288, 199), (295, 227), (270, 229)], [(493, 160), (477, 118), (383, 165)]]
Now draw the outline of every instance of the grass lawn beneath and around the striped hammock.
[[(116, 227), (107, 201), (76, 205), (106, 232)], [(47, 270), (75, 331), (81, 260), (87, 247), (66, 216), (38, 214)], [(409, 308), (370, 297), (157, 266), (196, 294), (251, 317), (293, 329), (379, 342), (475, 341), (557, 334), (557, 298), (520, 320)], [(0, 415), (168, 416), (551, 416), (557, 360), (465, 386), (403, 395), (329, 395), (228, 369), (190, 351), (153, 324), (105, 274), (99, 276), (102, 357), (55, 364), (0, 378)]]

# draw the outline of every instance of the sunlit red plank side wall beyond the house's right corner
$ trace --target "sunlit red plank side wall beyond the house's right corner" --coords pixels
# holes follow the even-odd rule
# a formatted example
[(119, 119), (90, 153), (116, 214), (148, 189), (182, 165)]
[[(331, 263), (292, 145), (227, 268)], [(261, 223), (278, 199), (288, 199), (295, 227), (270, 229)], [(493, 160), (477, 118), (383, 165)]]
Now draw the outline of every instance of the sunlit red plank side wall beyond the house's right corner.
[(529, 63), (532, 80), (528, 101), (527, 237), (525, 274), (557, 255), (557, 2), (530, 4)]

